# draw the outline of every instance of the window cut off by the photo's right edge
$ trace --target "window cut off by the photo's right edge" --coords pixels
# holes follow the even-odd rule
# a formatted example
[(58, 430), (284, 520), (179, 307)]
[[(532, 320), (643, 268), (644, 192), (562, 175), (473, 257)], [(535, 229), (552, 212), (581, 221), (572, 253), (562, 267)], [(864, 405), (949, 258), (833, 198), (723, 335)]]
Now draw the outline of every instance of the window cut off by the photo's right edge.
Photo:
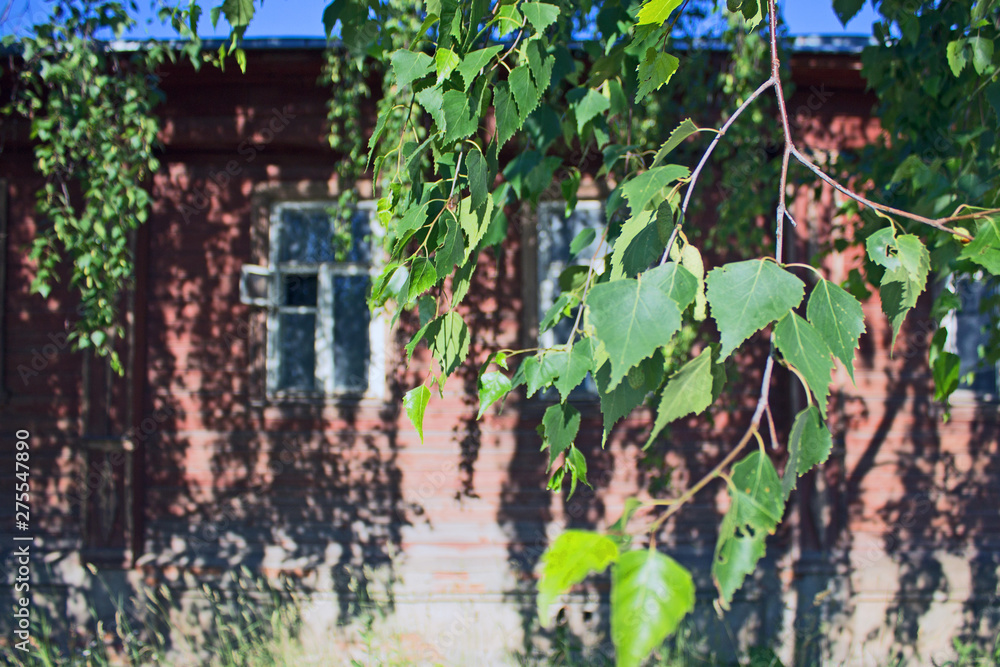
[(961, 359), (960, 389), (997, 396), (1000, 365), (991, 355), (1000, 321), (1000, 284), (982, 274), (953, 280), (959, 307), (944, 322), (947, 350)]

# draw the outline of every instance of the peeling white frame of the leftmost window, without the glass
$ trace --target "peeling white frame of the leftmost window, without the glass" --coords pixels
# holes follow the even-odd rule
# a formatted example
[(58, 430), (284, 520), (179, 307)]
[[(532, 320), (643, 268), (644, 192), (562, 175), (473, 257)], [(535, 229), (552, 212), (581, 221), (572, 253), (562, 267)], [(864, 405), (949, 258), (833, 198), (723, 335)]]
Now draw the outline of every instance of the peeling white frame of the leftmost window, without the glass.
[[(371, 262), (317, 262), (289, 263), (281, 262), (281, 232), (284, 226), (282, 214), (288, 209), (312, 209), (317, 207), (336, 207), (337, 202), (331, 199), (317, 198), (299, 201), (278, 201), (270, 206), (269, 211), (269, 251), (268, 266), (257, 267), (244, 265), (240, 280), (240, 294), (244, 303), (267, 307), (267, 352), (265, 384), (266, 395), (271, 399), (310, 398), (310, 397), (385, 397), (385, 321), (379, 312), (373, 313), (368, 325), (368, 377), (365, 391), (357, 392), (338, 389), (335, 386), (334, 368), (334, 293), (333, 280), (341, 275), (368, 275), (372, 281), (381, 270), (380, 254), (381, 228), (376, 223), (375, 202), (364, 200), (355, 205), (355, 209), (368, 213), (371, 220)], [(315, 275), (318, 281), (318, 291), (315, 306), (285, 306), (282, 305), (282, 286), (284, 277), (288, 275)], [(250, 276), (266, 275), (270, 278), (269, 294), (266, 299), (253, 297), (246, 282)], [(316, 385), (312, 391), (300, 389), (282, 389), (279, 387), (281, 378), (281, 315), (296, 312), (315, 314), (316, 331), (314, 335), (316, 358)]]

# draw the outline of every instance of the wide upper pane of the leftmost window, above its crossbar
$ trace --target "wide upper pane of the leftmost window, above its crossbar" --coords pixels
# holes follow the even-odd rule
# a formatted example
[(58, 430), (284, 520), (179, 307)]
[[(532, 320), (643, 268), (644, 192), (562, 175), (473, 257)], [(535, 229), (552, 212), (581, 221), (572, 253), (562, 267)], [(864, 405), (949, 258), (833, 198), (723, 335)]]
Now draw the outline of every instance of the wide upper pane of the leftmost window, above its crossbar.
[(332, 211), (329, 204), (282, 208), (278, 261), (370, 262), (368, 210), (355, 209), (350, 220), (339, 220)]

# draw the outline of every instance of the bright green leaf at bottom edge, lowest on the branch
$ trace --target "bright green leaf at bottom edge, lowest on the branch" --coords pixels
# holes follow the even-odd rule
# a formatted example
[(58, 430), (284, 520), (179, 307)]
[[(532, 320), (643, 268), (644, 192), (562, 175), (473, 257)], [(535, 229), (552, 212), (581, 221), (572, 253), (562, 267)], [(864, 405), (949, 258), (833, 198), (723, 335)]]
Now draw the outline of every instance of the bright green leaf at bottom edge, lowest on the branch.
[(691, 573), (659, 551), (622, 554), (611, 570), (611, 640), (618, 667), (639, 667), (694, 609)]

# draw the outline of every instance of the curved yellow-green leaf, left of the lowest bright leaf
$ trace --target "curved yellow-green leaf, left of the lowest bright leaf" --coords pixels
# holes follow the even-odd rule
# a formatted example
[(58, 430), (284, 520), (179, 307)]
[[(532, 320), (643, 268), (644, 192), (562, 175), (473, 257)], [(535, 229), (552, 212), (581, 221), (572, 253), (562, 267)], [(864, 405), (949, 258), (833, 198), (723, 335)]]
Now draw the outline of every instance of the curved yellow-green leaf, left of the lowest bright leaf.
[(583, 581), (591, 572), (603, 572), (618, 560), (614, 540), (584, 530), (567, 530), (539, 559), (538, 618), (543, 627), (552, 621), (549, 607), (556, 597)]

